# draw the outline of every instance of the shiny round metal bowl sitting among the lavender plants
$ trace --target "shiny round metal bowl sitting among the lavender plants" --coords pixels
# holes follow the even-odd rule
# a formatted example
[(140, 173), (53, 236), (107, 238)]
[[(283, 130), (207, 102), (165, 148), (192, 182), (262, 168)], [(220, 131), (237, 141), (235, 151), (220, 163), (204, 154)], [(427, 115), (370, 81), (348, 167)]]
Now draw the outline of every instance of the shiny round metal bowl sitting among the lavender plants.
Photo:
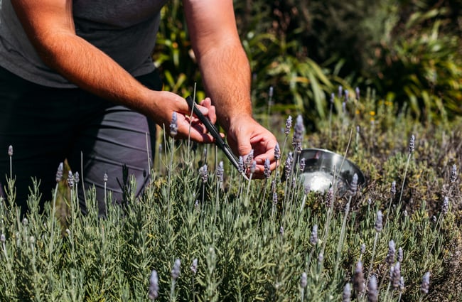
[[(355, 174), (358, 175), (358, 186), (366, 183), (360, 168), (338, 153), (326, 149), (303, 149), (299, 158), (305, 158), (301, 177), (310, 190), (323, 192), (335, 186), (338, 193), (346, 193)], [(298, 158), (295, 162), (299, 163)]]

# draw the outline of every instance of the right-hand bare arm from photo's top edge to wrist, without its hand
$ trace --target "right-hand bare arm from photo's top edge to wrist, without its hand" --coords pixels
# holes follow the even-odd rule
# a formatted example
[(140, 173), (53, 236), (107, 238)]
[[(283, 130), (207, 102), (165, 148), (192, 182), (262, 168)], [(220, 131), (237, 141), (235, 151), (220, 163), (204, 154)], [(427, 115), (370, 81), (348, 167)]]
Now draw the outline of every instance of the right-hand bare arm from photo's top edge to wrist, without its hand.
[(252, 117), (250, 68), (240, 43), (232, 0), (185, 0), (186, 20), (205, 90), (229, 129)]

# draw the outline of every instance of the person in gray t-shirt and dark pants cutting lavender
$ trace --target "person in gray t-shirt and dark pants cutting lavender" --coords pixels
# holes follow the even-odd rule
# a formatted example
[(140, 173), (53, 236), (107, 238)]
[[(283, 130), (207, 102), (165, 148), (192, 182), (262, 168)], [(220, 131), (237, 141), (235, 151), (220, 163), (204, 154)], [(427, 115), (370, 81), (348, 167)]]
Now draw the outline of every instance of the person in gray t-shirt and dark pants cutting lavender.
[[(114, 200), (122, 198), (122, 166), (135, 176), (139, 194), (149, 174), (146, 148), (154, 153), (155, 124), (168, 129), (173, 112), (178, 138), (188, 137), (192, 121), (190, 138), (213, 142), (188, 116), (186, 100), (161, 90), (151, 55), (166, 0), (0, 3), (0, 147), (14, 146), (16, 203), (23, 211), (31, 178), (51, 192), (65, 158), (74, 171), (82, 170), (85, 188), (95, 185), (100, 206), (104, 185)], [(254, 178), (262, 177), (266, 158), (276, 166), (276, 139), (252, 117), (251, 72), (232, 0), (183, 0), (183, 8), (208, 96), (200, 111), (222, 126), (237, 155), (254, 151)], [(9, 159), (0, 156), (3, 184)]]

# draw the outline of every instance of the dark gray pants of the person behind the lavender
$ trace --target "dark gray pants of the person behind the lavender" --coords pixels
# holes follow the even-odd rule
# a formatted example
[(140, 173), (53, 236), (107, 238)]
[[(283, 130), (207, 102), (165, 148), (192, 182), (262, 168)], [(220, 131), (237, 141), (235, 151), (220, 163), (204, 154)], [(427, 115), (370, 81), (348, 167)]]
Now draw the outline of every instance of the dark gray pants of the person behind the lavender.
[[(153, 90), (161, 90), (158, 72), (137, 80)], [(129, 175), (135, 176), (139, 194), (149, 177), (148, 150), (149, 158), (154, 158), (151, 141), (155, 141), (155, 131), (154, 122), (126, 107), (77, 88), (36, 85), (0, 68), (0, 185), (4, 188), (9, 175), (11, 145), (16, 204), (23, 213), (27, 210), (31, 178), (41, 181), (43, 206), (45, 200), (51, 200), (56, 170), (65, 158), (72, 172), (81, 176), (83, 172), (85, 188), (95, 185), (100, 212), (104, 210), (104, 173), (108, 176), (112, 202), (123, 200), (123, 166), (127, 166)], [(85, 212), (82, 190), (79, 200)]]

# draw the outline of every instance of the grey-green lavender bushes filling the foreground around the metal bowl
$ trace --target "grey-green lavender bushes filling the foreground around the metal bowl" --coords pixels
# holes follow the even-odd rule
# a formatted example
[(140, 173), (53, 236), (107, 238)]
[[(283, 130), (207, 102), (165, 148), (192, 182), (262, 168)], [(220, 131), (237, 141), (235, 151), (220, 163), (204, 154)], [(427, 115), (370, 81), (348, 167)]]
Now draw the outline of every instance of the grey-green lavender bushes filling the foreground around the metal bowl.
[[(335, 97), (335, 106), (342, 101)], [(0, 301), (146, 301), (153, 270), (159, 301), (342, 301), (359, 261), (366, 281), (377, 276), (380, 301), (419, 301), (426, 271), (426, 301), (458, 301), (462, 188), (460, 173), (451, 180), (450, 167), (462, 161), (461, 124), (410, 123), (408, 116), (397, 116), (395, 104), (376, 100), (372, 92), (347, 104), (303, 140), (304, 147), (344, 153), (367, 176), (355, 195), (336, 193), (332, 207), (326, 193), (305, 191), (298, 165), (295, 182), (279, 178), (284, 164), (270, 178), (251, 182), (226, 164), (221, 180), (216, 167), (222, 153), (208, 146), (193, 151), (187, 141), (173, 139), (144, 195), (128, 205), (109, 204), (104, 219), (98, 217), (95, 188), (87, 192), (87, 215), (75, 206), (77, 187), (63, 194), (69, 204), (65, 222), (51, 203), (38, 212), (37, 182), (26, 220), (1, 200)], [(417, 137), (412, 152), (411, 134)], [(280, 141), (291, 136), (276, 135)], [(281, 163), (289, 151), (294, 149), (286, 146)], [(205, 178), (199, 173), (204, 167)], [(13, 187), (5, 188), (11, 198)], [(445, 197), (447, 212), (441, 210)], [(384, 214), (380, 232), (378, 210)], [(318, 240), (311, 236), (314, 225)], [(404, 290), (390, 289), (385, 259), (391, 240), (404, 251)], [(172, 276), (176, 259), (178, 279)], [(197, 270), (190, 269), (194, 259)], [(364, 293), (355, 293), (362, 297), (357, 301)]]

